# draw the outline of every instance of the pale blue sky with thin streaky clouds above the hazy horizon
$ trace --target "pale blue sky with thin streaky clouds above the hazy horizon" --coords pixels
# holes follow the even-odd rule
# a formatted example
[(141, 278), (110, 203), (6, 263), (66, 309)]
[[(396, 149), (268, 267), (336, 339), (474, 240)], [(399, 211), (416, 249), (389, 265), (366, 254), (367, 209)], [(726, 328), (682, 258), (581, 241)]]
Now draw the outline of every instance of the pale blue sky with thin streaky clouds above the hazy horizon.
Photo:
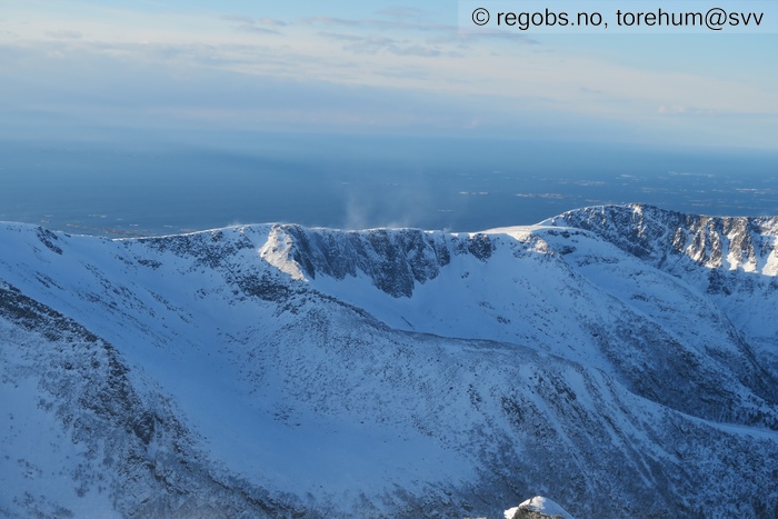
[(438, 0), (0, 6), (6, 137), (259, 130), (778, 149), (778, 34), (465, 34), (457, 2)]

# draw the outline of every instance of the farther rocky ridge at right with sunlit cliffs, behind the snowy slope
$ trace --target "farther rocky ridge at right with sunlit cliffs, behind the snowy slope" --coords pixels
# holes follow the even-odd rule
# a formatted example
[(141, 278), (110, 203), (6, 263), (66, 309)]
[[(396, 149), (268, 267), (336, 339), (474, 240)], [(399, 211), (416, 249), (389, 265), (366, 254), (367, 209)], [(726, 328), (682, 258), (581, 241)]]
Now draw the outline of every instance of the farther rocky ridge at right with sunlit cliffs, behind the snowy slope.
[(586, 229), (705, 292), (758, 363), (778, 377), (778, 217), (706, 217), (634, 204), (570, 211), (548, 223)]

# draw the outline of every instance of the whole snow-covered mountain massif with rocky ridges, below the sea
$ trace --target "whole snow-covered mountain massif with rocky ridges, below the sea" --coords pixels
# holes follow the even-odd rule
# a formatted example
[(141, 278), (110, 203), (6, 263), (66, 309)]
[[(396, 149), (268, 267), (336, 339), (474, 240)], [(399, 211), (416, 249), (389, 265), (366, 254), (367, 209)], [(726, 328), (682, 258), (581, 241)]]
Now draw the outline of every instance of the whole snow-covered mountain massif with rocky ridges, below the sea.
[(0, 515), (776, 517), (777, 236), (3, 223)]

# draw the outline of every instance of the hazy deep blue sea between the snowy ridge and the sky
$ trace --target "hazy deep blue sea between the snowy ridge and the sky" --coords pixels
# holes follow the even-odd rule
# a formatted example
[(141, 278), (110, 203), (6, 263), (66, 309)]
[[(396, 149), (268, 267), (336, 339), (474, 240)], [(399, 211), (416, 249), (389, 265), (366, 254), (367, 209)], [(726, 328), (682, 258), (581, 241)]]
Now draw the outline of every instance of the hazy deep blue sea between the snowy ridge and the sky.
[(381, 136), (0, 141), (0, 220), (112, 237), (236, 223), (477, 231), (645, 202), (778, 214), (778, 153)]

